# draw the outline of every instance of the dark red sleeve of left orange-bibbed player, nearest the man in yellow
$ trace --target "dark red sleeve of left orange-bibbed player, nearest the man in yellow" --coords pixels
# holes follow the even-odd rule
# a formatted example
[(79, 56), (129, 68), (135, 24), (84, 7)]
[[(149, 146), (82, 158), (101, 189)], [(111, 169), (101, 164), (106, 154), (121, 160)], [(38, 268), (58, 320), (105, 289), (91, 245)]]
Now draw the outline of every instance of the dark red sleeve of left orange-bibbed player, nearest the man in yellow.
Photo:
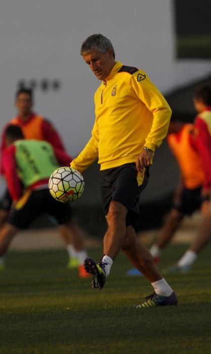
[(65, 151), (65, 146), (62, 142), (62, 139), (51, 122), (49, 122), (47, 119), (44, 119), (42, 121), (41, 129), (45, 141), (50, 143), (53, 147)]

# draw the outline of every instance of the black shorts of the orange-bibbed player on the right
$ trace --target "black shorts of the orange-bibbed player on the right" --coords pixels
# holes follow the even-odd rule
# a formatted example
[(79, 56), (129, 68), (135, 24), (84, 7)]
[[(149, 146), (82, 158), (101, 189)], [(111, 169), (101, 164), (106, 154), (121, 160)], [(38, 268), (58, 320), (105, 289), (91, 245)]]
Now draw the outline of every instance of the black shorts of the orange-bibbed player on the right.
[(194, 211), (200, 209), (202, 201), (201, 187), (194, 189), (183, 188), (179, 200), (174, 203), (173, 207), (183, 215), (190, 216)]

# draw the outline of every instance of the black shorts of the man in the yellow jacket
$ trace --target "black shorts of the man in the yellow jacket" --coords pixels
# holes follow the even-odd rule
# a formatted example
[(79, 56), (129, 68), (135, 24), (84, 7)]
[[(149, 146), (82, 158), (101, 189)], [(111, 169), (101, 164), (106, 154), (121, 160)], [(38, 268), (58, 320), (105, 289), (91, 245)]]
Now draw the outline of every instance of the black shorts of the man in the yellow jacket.
[(134, 162), (126, 163), (100, 171), (100, 177), (101, 198), (105, 215), (108, 214), (111, 201), (117, 201), (128, 209), (126, 226), (132, 225), (137, 231), (139, 197), (148, 182), (148, 168), (141, 177)]

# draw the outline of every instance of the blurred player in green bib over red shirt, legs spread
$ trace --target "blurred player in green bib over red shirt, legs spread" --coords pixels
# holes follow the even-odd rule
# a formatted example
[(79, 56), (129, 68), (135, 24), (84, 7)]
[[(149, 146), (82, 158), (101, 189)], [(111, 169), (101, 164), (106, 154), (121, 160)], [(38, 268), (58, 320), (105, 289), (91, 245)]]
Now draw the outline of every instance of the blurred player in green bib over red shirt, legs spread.
[[(83, 261), (87, 256), (83, 239), (76, 227), (68, 204), (61, 205), (51, 197), (48, 179), (60, 165), (68, 165), (71, 157), (63, 150), (38, 140), (24, 140), (18, 125), (5, 130), (6, 147), (2, 153), (2, 169), (13, 200), (7, 222), (0, 229), (0, 264), (4, 268), (4, 255), (19, 229), (26, 229), (40, 214), (47, 212), (58, 231), (73, 246), (73, 259), (79, 265), (79, 276), (86, 277)], [(71, 242), (70, 242), (71, 241)]]

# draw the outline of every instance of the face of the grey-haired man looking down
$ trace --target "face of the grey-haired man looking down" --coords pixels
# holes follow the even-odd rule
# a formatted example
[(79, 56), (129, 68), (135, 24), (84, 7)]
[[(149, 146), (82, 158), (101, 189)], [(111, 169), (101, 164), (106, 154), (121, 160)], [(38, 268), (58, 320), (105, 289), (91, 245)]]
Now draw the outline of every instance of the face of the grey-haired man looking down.
[(115, 65), (112, 49), (106, 53), (92, 49), (89, 54), (83, 55), (83, 59), (99, 80), (105, 80)]

